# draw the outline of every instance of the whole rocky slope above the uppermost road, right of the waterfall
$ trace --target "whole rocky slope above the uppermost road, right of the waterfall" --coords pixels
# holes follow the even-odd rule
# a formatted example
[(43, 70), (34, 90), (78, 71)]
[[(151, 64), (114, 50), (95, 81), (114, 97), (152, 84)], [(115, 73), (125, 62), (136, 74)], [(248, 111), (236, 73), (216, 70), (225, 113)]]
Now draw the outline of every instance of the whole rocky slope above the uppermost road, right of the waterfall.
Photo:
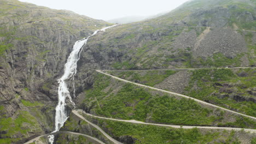
[(254, 65), (254, 6), (246, 0), (191, 1), (156, 19), (96, 35), (83, 59), (104, 69)]

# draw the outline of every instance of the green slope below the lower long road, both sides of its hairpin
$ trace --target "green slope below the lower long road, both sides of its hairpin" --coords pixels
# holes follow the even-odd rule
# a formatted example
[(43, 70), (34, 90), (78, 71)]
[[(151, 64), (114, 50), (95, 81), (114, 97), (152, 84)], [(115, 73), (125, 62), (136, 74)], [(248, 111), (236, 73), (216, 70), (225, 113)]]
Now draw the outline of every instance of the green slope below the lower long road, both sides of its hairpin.
[[(206, 130), (201, 128), (170, 128), (159, 127), (156, 125), (131, 124), (127, 122), (117, 122), (106, 120), (89, 115), (84, 118), (97, 124), (104, 131), (108, 131), (110, 136), (123, 143), (253, 143), (255, 136), (246, 131), (227, 131), (227, 130)], [(80, 131), (88, 134), (83, 127), (86, 124), (79, 124), (79, 119), (73, 120), (74, 115), (68, 119), (63, 130)], [(70, 124), (72, 123), (72, 125)], [(79, 127), (77, 127), (79, 125)]]

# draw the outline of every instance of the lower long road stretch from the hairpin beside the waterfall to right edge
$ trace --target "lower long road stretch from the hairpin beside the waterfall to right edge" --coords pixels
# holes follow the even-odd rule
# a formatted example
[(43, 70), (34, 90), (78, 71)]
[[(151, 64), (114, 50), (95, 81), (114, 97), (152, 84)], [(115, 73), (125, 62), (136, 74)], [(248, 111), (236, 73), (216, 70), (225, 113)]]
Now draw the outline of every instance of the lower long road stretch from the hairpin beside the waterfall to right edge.
[[(83, 110), (73, 110), (72, 112), (75, 115), (79, 116), (79, 117), (83, 117), (83, 116), (81, 116), (78, 112), (83, 112), (85, 115), (88, 115), (88, 116), (91, 116), (91, 117), (96, 117), (96, 118), (101, 118), (101, 119), (109, 119), (109, 120), (112, 120), (112, 121), (127, 122), (127, 123), (137, 123), (137, 124), (147, 124), (147, 125), (157, 125), (157, 126), (161, 126), (161, 127), (181, 128), (181, 125), (158, 124), (158, 123), (144, 123), (144, 122), (139, 122), (139, 121), (136, 121), (136, 120), (122, 120), (122, 119), (99, 117), (99, 116), (91, 115), (90, 113), (86, 113)], [(199, 129), (225, 129), (225, 130), (236, 130), (236, 131), (245, 130), (247, 132), (256, 133), (256, 129), (243, 129), (243, 128), (230, 128), (230, 127), (200, 127), (200, 126), (185, 126), (185, 125), (183, 125), (182, 128), (184, 128), (184, 129), (192, 129), (192, 128), (199, 128)]]

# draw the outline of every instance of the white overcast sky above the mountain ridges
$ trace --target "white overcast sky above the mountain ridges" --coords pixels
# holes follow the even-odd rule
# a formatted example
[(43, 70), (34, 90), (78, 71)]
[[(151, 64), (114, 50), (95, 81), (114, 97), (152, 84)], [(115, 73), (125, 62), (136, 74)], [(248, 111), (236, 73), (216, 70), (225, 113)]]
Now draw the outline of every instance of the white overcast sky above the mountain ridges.
[(188, 0), (19, 0), (52, 9), (66, 9), (94, 19), (151, 16), (171, 11)]

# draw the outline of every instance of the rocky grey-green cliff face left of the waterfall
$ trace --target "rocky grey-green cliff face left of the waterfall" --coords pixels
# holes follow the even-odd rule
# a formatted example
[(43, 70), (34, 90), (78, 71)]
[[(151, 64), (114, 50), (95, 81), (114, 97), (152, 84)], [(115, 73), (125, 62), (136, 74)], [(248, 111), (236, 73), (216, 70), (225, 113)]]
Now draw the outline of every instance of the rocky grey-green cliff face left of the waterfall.
[(74, 42), (109, 24), (15, 0), (0, 5), (0, 143), (20, 143), (53, 130), (56, 80)]

